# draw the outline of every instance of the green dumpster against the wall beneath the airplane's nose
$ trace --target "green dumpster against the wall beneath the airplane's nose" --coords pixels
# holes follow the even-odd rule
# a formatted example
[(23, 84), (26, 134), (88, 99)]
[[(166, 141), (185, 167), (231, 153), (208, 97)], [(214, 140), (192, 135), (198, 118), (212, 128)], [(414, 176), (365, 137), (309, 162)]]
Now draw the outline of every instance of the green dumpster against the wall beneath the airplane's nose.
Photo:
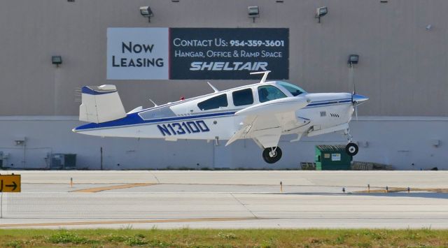
[(352, 159), (345, 145), (316, 145), (316, 170), (350, 170)]

